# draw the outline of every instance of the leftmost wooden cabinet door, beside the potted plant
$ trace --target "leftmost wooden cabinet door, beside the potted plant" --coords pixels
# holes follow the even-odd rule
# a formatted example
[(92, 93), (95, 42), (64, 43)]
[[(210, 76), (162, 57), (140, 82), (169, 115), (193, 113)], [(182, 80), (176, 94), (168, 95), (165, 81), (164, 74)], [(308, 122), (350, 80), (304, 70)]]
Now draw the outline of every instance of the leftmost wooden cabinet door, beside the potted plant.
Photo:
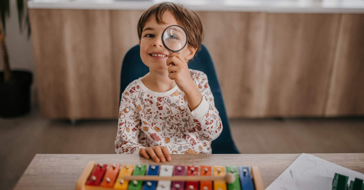
[(31, 9), (29, 14), (42, 115), (117, 117), (110, 11)]

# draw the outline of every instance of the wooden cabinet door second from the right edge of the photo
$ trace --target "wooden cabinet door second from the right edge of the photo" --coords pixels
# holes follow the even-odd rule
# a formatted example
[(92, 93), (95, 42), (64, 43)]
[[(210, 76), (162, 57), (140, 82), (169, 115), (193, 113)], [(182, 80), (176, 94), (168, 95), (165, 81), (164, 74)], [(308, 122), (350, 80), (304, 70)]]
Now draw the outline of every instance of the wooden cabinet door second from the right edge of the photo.
[(261, 116), (322, 116), (337, 14), (268, 14)]

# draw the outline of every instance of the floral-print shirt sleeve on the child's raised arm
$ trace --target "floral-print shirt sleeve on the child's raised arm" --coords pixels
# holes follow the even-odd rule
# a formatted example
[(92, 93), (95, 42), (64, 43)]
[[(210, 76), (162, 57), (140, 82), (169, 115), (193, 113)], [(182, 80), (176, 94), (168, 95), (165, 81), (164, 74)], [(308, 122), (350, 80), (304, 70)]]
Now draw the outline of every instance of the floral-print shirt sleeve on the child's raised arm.
[(214, 96), (211, 92), (206, 74), (202, 72), (198, 73), (194, 80), (202, 94), (202, 101), (192, 112), (187, 107), (195, 126), (193, 130), (198, 133), (201, 139), (213, 141), (222, 132), (222, 122), (219, 112), (215, 108)]

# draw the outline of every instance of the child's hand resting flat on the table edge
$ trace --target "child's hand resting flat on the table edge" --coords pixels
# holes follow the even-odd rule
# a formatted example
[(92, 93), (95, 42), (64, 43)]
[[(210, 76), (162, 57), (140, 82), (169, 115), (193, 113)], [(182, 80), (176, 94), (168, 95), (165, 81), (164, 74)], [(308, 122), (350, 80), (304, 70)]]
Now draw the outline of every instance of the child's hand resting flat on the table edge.
[[(163, 153), (164, 153), (164, 155), (163, 155)], [(150, 157), (156, 163), (158, 163), (159, 161), (165, 162), (166, 159), (167, 159), (167, 161), (172, 160), (171, 155), (169, 154), (169, 151), (168, 151), (167, 147), (165, 147), (165, 146), (151, 146), (151, 147), (147, 147), (147, 148), (141, 148), (139, 150), (139, 154), (143, 155), (144, 158), (147, 158), (147, 159), (149, 159), (149, 155), (150, 155)]]

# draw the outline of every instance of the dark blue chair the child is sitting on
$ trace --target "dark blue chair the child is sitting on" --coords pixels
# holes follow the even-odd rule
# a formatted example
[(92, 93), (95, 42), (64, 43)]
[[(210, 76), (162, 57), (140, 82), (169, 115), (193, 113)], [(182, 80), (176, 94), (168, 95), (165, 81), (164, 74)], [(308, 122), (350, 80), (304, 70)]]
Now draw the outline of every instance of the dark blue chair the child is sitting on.
[[(211, 148), (213, 154), (239, 154), (233, 138), (230, 133), (229, 120), (226, 116), (225, 105), (222, 100), (222, 94), (214, 64), (205, 45), (201, 45), (201, 51), (197, 52), (195, 57), (189, 62), (190, 69), (200, 70), (207, 75), (209, 85), (214, 95), (215, 107), (219, 111), (222, 121), (223, 130), (220, 136), (212, 141)], [(145, 66), (140, 58), (140, 47), (135, 45), (126, 53), (120, 75), (120, 96), (124, 92), (126, 86), (135, 79), (144, 76), (149, 72), (149, 68)], [(119, 102), (120, 104), (120, 102)]]

